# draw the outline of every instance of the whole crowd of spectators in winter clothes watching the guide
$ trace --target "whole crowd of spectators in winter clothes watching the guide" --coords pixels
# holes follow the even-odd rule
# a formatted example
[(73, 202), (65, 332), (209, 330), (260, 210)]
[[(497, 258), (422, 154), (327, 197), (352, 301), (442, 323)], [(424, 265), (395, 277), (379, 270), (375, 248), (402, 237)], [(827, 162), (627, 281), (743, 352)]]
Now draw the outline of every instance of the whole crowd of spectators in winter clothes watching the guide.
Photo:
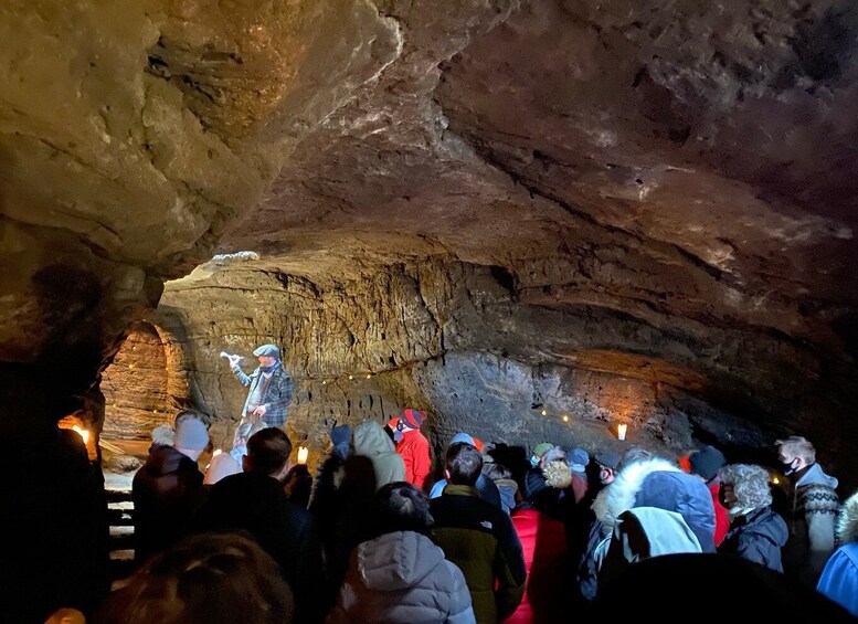
[(858, 616), (858, 494), (840, 505), (804, 437), (777, 441), (776, 473), (710, 445), (525, 453), (467, 432), (433, 458), (426, 417), (338, 424), (311, 474), (262, 417), (201, 470), (206, 425), (181, 413), (134, 478), (138, 569), (93, 621), (553, 623), (667, 593), (706, 607), (713, 583), (749, 616)]

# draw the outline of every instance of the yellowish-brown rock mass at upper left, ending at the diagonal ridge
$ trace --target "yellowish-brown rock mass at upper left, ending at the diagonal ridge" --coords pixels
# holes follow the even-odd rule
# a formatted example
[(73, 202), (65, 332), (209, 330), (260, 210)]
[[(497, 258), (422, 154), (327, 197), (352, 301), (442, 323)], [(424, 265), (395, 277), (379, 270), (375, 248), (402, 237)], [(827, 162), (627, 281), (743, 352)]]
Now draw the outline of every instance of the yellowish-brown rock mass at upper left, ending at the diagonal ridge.
[(0, 38), (3, 409), (49, 421), (401, 46), (363, 0), (7, 2)]

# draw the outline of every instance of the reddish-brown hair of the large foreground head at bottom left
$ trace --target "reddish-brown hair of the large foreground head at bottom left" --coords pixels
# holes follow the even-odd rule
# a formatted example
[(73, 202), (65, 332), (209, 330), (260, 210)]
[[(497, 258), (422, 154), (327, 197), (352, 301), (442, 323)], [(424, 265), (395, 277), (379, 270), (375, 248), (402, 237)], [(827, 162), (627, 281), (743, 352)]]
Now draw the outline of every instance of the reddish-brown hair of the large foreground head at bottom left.
[(248, 537), (204, 533), (149, 559), (95, 624), (290, 624), (295, 604), (274, 559)]

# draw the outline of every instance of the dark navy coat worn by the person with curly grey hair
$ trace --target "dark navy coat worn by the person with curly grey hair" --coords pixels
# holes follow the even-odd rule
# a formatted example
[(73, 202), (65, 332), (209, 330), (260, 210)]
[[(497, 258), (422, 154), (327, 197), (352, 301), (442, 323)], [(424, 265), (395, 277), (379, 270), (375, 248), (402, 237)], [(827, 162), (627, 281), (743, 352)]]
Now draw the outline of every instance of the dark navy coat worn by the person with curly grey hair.
[(781, 549), (786, 543), (786, 522), (771, 506), (739, 516), (730, 525), (718, 552), (735, 554), (775, 572), (783, 572)]

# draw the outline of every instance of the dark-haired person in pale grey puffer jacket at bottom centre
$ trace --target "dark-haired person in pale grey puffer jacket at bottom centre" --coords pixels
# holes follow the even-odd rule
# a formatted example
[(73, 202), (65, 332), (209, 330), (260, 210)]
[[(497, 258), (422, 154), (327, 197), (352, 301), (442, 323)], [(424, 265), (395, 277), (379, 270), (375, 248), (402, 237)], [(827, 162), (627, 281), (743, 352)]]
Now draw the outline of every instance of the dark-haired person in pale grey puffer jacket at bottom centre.
[(328, 624), (475, 623), (462, 571), (430, 539), (426, 497), (404, 482), (374, 496), (374, 536), (358, 544)]

